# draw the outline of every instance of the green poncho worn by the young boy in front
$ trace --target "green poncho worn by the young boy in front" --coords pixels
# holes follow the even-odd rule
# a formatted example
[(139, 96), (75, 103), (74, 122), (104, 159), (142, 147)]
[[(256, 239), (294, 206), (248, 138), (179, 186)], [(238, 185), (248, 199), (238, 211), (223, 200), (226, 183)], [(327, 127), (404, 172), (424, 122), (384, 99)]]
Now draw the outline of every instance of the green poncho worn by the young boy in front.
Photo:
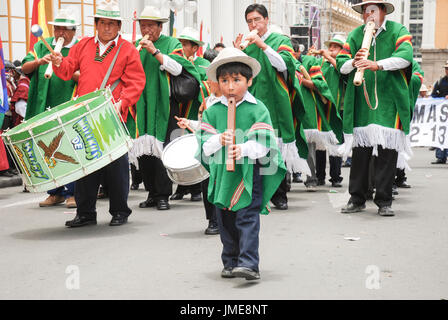
[[(197, 157), (210, 172), (208, 200), (219, 208), (238, 211), (252, 202), (254, 160), (244, 157), (236, 161), (234, 172), (228, 172), (224, 147), (209, 157), (201, 152), (210, 137), (223, 133), (226, 128), (227, 106), (218, 102), (203, 114), (201, 130), (197, 132), (201, 146)], [(236, 108), (236, 128), (236, 144), (255, 140), (270, 149), (265, 157), (257, 160), (261, 165), (260, 175), (263, 178), (260, 213), (268, 214), (269, 200), (286, 173), (268, 109), (260, 100), (257, 100), (257, 104), (242, 102)]]

